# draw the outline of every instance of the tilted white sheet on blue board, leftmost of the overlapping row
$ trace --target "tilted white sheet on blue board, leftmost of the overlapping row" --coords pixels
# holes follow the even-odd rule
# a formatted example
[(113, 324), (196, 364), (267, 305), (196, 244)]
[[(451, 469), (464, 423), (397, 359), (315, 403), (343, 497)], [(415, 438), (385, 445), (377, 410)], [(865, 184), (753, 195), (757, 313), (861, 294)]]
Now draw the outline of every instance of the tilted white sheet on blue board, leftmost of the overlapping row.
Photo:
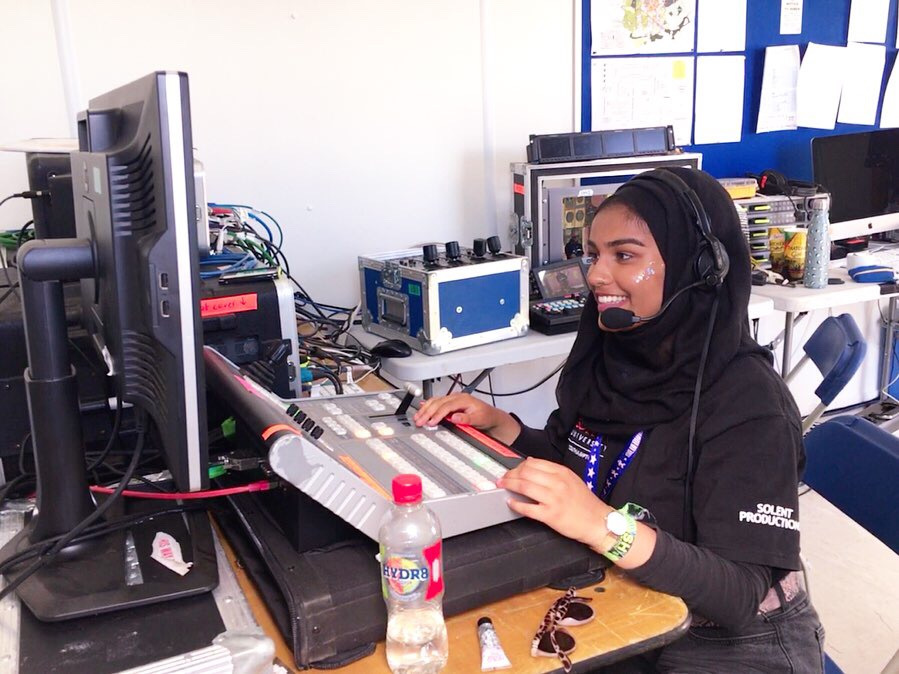
[(796, 128), (796, 81), (799, 45), (765, 48), (762, 95), (756, 133)]

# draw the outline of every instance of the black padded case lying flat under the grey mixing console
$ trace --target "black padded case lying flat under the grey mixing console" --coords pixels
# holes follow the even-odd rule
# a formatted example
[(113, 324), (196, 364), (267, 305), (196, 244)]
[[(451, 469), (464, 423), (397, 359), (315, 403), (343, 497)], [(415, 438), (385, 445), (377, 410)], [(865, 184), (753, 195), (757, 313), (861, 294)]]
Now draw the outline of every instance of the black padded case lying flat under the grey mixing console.
[[(362, 536), (297, 553), (258, 494), (216, 515), (297, 666), (332, 669), (384, 639), (377, 544)], [(589, 548), (519, 519), (444, 540), (444, 614), (452, 616), (608, 564)]]

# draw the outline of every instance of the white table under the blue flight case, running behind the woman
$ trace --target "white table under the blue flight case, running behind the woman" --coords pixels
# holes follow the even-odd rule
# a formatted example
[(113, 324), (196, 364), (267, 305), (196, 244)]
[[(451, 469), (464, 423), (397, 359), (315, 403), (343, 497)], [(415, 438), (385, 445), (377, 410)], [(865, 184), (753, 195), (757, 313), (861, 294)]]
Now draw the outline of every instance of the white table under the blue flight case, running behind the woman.
[[(751, 320), (761, 318), (773, 311), (774, 302), (771, 299), (750, 297), (749, 318)], [(384, 340), (384, 337), (365, 332), (360, 326), (353, 327), (350, 335), (366, 348), (371, 348)], [(406, 358), (385, 359), (381, 367), (389, 377), (403, 381), (422, 382), (424, 396), (429, 398), (433, 391), (433, 381), (438, 377), (481, 370), (481, 375), (472, 384), (469, 384), (469, 386), (477, 386), (483, 377), (495, 367), (537, 358), (567, 356), (574, 344), (575, 335), (574, 332), (562, 335), (544, 335), (536, 330), (531, 330), (523, 337), (450, 351), (437, 356), (428, 356), (413, 351), (412, 355)]]

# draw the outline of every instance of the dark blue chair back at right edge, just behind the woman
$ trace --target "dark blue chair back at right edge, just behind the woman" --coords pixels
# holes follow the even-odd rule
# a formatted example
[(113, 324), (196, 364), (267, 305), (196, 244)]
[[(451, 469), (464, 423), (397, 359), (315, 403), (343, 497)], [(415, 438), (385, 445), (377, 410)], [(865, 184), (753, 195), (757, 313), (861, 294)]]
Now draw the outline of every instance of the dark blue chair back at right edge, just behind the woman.
[(804, 442), (803, 482), (899, 554), (899, 438), (867, 419), (841, 416)]

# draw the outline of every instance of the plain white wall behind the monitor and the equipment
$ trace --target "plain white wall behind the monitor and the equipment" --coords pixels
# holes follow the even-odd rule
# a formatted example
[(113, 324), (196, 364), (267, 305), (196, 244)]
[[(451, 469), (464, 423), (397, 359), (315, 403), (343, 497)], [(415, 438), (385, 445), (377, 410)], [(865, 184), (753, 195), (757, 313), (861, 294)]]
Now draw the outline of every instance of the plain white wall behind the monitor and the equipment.
[[(508, 240), (509, 162), (572, 125), (573, 0), (58, 4), (79, 109), (186, 71), (209, 198), (278, 218), (294, 276), (331, 303), (357, 301), (359, 254)], [(0, 19), (0, 143), (69, 135), (50, 0), (0, 0)], [(0, 153), (3, 196), (26, 187)], [(0, 228), (29, 213), (7, 204)]]

